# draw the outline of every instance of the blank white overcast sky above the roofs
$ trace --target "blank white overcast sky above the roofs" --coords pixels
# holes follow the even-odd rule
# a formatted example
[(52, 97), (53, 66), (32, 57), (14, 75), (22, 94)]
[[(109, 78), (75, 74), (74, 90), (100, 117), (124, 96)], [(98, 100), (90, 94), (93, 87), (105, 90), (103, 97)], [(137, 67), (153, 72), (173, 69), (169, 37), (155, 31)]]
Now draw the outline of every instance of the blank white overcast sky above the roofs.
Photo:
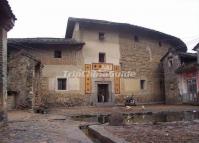
[[(68, 17), (125, 22), (199, 42), (199, 0), (8, 0), (17, 17), (8, 37), (61, 37)], [(189, 50), (191, 51), (191, 50)]]

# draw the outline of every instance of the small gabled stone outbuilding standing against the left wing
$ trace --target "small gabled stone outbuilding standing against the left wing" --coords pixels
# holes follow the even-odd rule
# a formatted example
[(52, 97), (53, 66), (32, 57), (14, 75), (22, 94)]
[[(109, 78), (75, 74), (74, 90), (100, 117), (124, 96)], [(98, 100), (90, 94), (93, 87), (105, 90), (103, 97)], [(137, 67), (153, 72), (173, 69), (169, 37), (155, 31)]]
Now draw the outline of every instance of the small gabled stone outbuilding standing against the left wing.
[(8, 43), (8, 110), (32, 108), (40, 95), (42, 64), (26, 49), (17, 43)]

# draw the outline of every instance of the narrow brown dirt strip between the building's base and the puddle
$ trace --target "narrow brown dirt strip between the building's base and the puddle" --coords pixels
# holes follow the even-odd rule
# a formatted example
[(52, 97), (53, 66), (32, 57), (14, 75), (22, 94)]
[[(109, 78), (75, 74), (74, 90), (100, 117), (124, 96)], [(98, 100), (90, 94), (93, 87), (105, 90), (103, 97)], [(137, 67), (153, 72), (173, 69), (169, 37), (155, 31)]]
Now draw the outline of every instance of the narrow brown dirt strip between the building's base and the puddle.
[(94, 106), (83, 106), (83, 107), (71, 107), (71, 108), (51, 108), (50, 113), (59, 113), (61, 115), (96, 115), (96, 114), (110, 114), (113, 112), (120, 113), (140, 113), (140, 112), (162, 112), (162, 111), (199, 111), (199, 106), (189, 105), (144, 105), (142, 106), (131, 106), (131, 107), (94, 107)]

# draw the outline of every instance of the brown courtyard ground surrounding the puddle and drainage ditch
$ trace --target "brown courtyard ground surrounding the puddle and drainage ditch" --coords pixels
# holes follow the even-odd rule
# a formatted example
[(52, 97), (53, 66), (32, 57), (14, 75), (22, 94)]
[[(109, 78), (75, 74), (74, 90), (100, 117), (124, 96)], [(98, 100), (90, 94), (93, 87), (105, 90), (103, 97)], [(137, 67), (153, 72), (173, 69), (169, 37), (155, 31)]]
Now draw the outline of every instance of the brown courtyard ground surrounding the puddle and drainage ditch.
[[(73, 121), (70, 116), (82, 114), (111, 114), (113, 112), (199, 111), (199, 106), (148, 105), (126, 107), (71, 107), (51, 108), (48, 114), (32, 111), (11, 111), (8, 126), (0, 128), (0, 143), (92, 143), (79, 129), (85, 122)], [(199, 142), (199, 123), (188, 122), (164, 125), (132, 125), (107, 128), (117, 136), (137, 142), (164, 142), (187, 138)], [(168, 136), (167, 136), (168, 134)], [(159, 140), (158, 140), (159, 139)], [(182, 140), (183, 141), (183, 140)], [(166, 142), (166, 141), (165, 141)]]

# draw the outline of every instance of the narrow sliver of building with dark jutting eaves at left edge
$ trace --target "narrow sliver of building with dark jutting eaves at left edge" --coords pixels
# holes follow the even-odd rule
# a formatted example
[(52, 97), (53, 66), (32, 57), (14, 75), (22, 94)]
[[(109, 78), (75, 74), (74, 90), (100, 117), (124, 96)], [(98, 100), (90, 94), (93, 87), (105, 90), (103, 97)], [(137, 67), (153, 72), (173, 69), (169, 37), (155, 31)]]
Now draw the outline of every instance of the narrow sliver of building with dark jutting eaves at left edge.
[(16, 20), (7, 0), (0, 1), (0, 126), (7, 120), (7, 32)]

